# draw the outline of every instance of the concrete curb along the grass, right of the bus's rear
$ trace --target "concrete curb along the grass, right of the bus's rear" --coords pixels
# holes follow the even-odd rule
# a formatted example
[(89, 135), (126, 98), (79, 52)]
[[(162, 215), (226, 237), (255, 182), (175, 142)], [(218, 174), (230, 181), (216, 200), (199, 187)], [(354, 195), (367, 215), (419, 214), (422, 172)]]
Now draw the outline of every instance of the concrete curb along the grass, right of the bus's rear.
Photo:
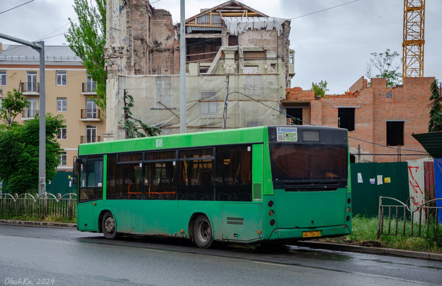
[(321, 241), (298, 241), (294, 245), (309, 247), (309, 248), (325, 248), (325, 249), (341, 250), (341, 251), (354, 251), (354, 252), (365, 252), (365, 253), (384, 254), (384, 255), (398, 255), (398, 256), (406, 256), (413, 258), (425, 258), (432, 260), (442, 260), (442, 254), (394, 249), (394, 248), (366, 247), (366, 246), (348, 245), (348, 244), (339, 244), (339, 243), (321, 242)]

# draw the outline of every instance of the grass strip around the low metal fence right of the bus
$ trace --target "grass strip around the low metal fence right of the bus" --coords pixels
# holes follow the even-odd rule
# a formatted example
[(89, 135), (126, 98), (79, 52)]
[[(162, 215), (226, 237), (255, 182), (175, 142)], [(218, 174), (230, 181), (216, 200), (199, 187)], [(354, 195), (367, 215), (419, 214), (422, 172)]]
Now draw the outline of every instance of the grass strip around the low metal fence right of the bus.
[[(398, 233), (402, 234), (402, 226), (404, 221), (398, 221)], [(351, 228), (352, 233), (347, 236), (335, 237), (335, 238), (324, 238), (320, 241), (335, 242), (342, 244), (353, 244), (353, 245), (368, 245), (373, 244), (373, 246), (380, 245), (386, 248), (397, 248), (406, 250), (415, 250), (423, 252), (434, 252), (442, 253), (442, 240), (434, 239), (434, 219), (429, 222), (429, 230), (427, 233), (427, 225), (422, 224), (421, 235), (425, 237), (410, 237), (410, 236), (391, 236), (391, 235), (381, 235), (379, 240), (376, 239), (377, 236), (377, 217), (363, 217), (361, 215), (355, 215), (352, 217)], [(396, 229), (396, 219), (392, 219), (391, 231), (394, 233)], [(419, 230), (419, 225), (415, 223), (413, 225), (413, 234), (417, 235)], [(388, 217), (384, 218), (384, 233), (388, 232)], [(411, 224), (409, 221), (406, 222), (405, 234), (411, 233)], [(442, 225), (438, 226), (438, 237), (442, 237)], [(366, 242), (369, 242), (368, 244)], [(372, 242), (372, 243), (371, 243)]]

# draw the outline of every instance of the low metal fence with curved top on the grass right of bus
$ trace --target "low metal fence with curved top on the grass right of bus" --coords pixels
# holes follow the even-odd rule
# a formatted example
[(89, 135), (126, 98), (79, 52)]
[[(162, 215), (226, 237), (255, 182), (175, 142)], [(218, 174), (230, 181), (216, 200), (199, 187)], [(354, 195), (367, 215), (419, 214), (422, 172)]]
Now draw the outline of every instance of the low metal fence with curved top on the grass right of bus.
[[(383, 205), (382, 199), (391, 199), (395, 202), (399, 202), (400, 205)], [(440, 209), (442, 209), (442, 207), (435, 206), (435, 203), (434, 206), (431, 206), (432, 202), (436, 202), (438, 200), (442, 200), (442, 198), (435, 198), (419, 204), (417, 198), (411, 197), (408, 198), (407, 202), (403, 203), (396, 198), (380, 196), (379, 213), (377, 216), (377, 239), (379, 239), (381, 235), (430, 237), (430, 233), (432, 233), (433, 231), (434, 235), (431, 235), (432, 238), (442, 239), (442, 236), (438, 236), (438, 225), (440, 224), (440, 219), (438, 219), (438, 212)], [(385, 210), (386, 207), (388, 208), (387, 210)], [(404, 209), (404, 211), (402, 211), (401, 208)], [(410, 220), (407, 220), (407, 211), (411, 213)], [(388, 212), (388, 231), (387, 233), (384, 233), (386, 212)], [(418, 212), (417, 215), (415, 215), (415, 212)], [(432, 214), (430, 215), (430, 213)], [(419, 217), (419, 221), (414, 221), (415, 217)], [(394, 224), (393, 228), (391, 225), (392, 221)], [(422, 226), (424, 226), (425, 229), (422, 229)], [(417, 231), (415, 229), (416, 227)], [(423, 235), (423, 233), (425, 233), (425, 236)]]

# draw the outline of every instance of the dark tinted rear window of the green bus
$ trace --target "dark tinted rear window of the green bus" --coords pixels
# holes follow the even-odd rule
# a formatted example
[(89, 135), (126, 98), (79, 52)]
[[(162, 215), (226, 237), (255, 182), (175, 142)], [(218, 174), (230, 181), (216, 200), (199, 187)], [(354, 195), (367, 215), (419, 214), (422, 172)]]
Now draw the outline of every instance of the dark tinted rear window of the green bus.
[(270, 143), (273, 181), (347, 180), (347, 145)]

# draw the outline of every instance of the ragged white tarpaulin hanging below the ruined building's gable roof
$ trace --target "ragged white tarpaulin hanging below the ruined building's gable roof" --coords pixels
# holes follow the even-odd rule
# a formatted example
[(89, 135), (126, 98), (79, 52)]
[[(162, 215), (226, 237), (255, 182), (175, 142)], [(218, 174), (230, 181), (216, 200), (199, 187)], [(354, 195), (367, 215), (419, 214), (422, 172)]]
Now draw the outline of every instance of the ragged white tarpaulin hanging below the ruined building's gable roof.
[(279, 36), (282, 32), (282, 24), (287, 21), (287, 19), (274, 17), (222, 17), (222, 19), (231, 35), (243, 33), (248, 29), (273, 30), (275, 28)]

